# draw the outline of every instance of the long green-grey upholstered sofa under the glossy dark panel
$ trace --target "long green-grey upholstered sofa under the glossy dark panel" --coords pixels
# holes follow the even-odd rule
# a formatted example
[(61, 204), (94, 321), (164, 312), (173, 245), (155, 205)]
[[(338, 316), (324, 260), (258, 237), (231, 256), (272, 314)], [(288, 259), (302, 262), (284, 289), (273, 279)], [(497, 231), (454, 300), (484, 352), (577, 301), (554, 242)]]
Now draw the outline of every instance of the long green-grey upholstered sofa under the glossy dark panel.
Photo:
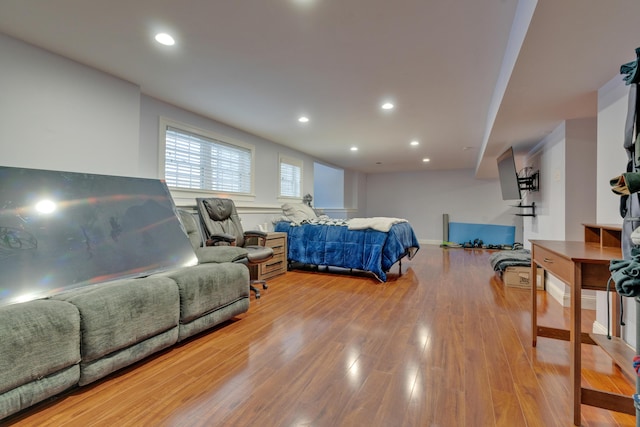
[(198, 248), (180, 216), (200, 264), (0, 307), (0, 420), (249, 309), (244, 249)]

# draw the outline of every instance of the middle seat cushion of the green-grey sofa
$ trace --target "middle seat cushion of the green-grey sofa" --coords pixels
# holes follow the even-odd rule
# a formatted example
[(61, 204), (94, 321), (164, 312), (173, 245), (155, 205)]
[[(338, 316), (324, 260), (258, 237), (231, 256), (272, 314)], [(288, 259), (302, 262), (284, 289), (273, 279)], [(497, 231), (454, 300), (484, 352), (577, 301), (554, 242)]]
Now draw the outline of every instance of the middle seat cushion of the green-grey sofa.
[(122, 279), (51, 298), (80, 311), (83, 364), (177, 326), (180, 314), (178, 288), (167, 277)]

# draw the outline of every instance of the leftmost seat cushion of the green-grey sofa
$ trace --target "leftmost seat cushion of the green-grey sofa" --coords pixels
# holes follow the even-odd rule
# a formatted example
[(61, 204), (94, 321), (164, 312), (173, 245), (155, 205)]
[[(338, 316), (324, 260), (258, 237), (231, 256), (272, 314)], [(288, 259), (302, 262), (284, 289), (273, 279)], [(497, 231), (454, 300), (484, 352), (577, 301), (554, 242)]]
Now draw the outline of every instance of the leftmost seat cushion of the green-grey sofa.
[(35, 300), (1, 307), (0, 325), (0, 393), (80, 362), (80, 315), (71, 304)]

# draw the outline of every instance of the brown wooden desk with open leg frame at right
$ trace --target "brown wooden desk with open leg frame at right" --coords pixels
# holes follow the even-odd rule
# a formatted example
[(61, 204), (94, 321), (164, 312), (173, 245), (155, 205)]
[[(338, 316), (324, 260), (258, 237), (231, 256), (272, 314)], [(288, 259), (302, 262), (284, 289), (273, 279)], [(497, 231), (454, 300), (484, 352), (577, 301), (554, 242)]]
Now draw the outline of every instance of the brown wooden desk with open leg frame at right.
[[(583, 333), (581, 330), (581, 291), (592, 289), (598, 291), (607, 290), (607, 281), (610, 277), (609, 261), (620, 259), (622, 253), (620, 247), (607, 247), (595, 242), (568, 242), (559, 240), (531, 240), (531, 277), (536, 277), (537, 266), (553, 274), (571, 288), (571, 321), (570, 329), (550, 328), (537, 324), (537, 289), (531, 287), (531, 331), (533, 346), (536, 346), (537, 337), (547, 337), (569, 341), (570, 344), (570, 381), (573, 397), (573, 424), (580, 425), (580, 404), (597, 406), (613, 411), (635, 415), (633, 399), (630, 396), (594, 390), (581, 386), (581, 352), (580, 345), (612, 343), (624, 352), (626, 347), (617, 337), (608, 340), (606, 336)], [(615, 284), (611, 284), (610, 291), (615, 291)], [(614, 302), (618, 298), (613, 298)], [(613, 318), (617, 318), (619, 303), (613, 304)], [(619, 333), (615, 333), (618, 335)], [(602, 339), (604, 338), (604, 339)], [(604, 348), (604, 346), (603, 346)], [(607, 349), (605, 348), (605, 351)], [(621, 368), (631, 366), (633, 350), (622, 357), (624, 362), (614, 360)], [(630, 356), (630, 357), (629, 357)], [(622, 364), (624, 363), (624, 365)], [(633, 369), (632, 369), (633, 370)], [(627, 371), (628, 372), (628, 371)]]

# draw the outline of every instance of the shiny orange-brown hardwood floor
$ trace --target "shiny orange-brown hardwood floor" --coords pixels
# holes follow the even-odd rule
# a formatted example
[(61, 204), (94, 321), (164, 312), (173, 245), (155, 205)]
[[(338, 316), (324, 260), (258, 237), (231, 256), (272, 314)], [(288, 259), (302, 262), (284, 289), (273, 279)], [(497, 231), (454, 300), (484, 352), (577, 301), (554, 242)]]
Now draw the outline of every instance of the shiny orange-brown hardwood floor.
[[(531, 347), (529, 291), (496, 280), (488, 257), (424, 245), (387, 283), (290, 271), (237, 320), (9, 424), (569, 426), (569, 344)], [(538, 298), (539, 323), (568, 324), (567, 309)], [(590, 331), (593, 312), (583, 319)], [(634, 393), (593, 346), (582, 381)], [(582, 409), (584, 426), (635, 425)]]

